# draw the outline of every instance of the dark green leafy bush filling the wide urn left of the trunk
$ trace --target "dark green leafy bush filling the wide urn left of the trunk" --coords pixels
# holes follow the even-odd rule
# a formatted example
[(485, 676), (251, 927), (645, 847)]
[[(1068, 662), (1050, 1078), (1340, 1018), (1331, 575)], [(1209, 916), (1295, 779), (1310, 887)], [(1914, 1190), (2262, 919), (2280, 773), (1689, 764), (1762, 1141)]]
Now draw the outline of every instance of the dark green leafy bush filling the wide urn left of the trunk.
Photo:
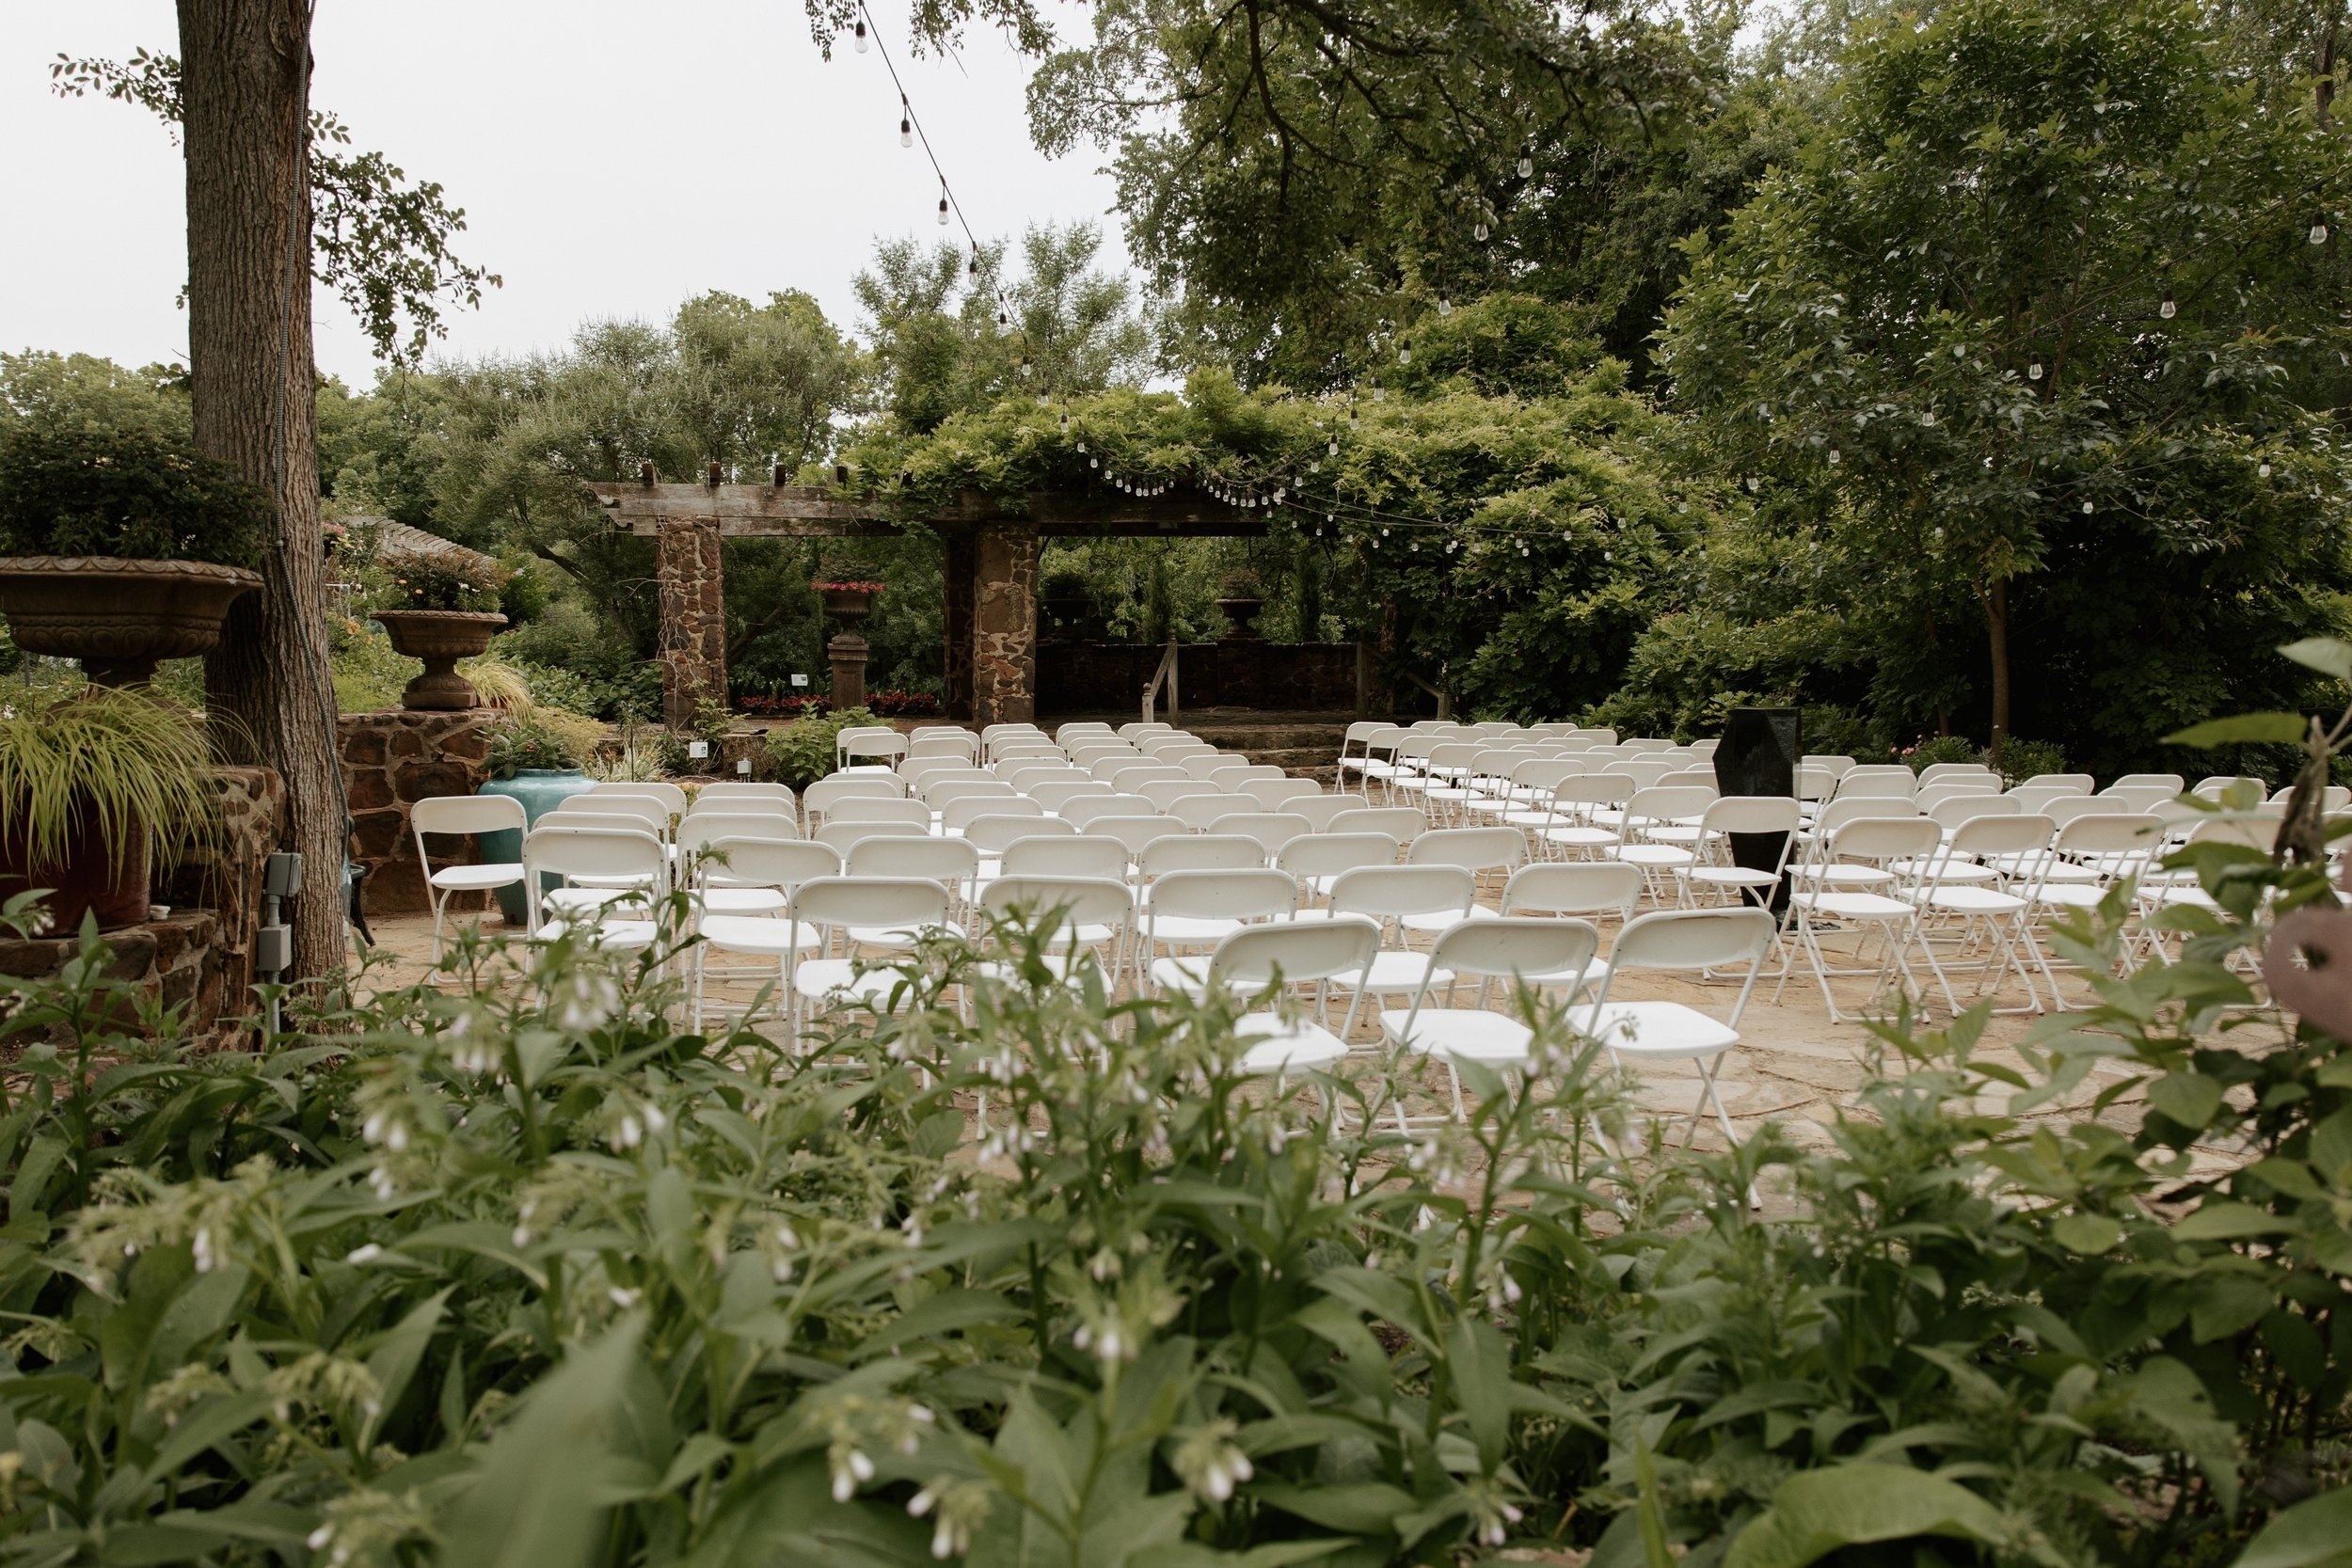
[(275, 515), (261, 489), (186, 435), (0, 423), (0, 555), (256, 567)]

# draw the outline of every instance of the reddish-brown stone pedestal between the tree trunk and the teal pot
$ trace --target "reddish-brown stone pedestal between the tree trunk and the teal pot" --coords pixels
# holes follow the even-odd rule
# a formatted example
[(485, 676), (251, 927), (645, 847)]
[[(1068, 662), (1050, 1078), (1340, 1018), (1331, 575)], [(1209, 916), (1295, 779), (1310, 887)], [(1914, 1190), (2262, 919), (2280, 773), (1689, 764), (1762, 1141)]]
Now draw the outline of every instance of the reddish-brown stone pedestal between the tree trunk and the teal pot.
[[(343, 790), (350, 795), (350, 858), (365, 872), (360, 907), (367, 914), (423, 914), (433, 907), (409, 806), (428, 795), (473, 795), (485, 778), (489, 743), (482, 726), (496, 708), (468, 712), (346, 712), (336, 724)], [(435, 865), (475, 860), (473, 839), (435, 839)], [(480, 893), (459, 893), (452, 910), (480, 910)]]

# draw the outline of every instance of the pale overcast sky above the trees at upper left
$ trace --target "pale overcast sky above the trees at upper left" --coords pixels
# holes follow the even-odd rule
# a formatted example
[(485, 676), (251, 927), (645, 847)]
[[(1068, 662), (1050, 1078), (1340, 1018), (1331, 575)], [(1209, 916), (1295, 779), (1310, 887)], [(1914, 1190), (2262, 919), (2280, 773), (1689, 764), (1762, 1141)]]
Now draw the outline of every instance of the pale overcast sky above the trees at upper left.
[[(1124, 268), (1103, 158), (1047, 162), (1028, 141), (1028, 63), (983, 33), (962, 68), (913, 61), (901, 7), (873, 9), (974, 230), (1087, 219)], [(139, 45), (176, 52), (172, 0), (0, 0), (0, 348), (186, 357), (179, 150), (146, 110), (49, 94), (59, 52)], [(821, 59), (800, 0), (320, 0), (315, 54), (313, 103), (437, 179), (466, 209), (459, 254), (506, 277), (442, 353), (557, 348), (588, 317), (666, 320), (703, 289), (797, 287), (851, 324), (875, 235), (941, 233), (880, 54)], [(374, 381), (325, 292), (318, 362)]]

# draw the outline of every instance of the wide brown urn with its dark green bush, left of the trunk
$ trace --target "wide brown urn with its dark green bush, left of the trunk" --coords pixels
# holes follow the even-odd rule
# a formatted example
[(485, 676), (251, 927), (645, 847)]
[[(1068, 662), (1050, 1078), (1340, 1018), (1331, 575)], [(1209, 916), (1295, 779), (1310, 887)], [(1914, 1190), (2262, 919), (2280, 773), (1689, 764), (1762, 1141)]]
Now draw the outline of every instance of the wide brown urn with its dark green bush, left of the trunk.
[(160, 430), (0, 435), (0, 614), (16, 646), (129, 686), (207, 654), (261, 585), (270, 498)]

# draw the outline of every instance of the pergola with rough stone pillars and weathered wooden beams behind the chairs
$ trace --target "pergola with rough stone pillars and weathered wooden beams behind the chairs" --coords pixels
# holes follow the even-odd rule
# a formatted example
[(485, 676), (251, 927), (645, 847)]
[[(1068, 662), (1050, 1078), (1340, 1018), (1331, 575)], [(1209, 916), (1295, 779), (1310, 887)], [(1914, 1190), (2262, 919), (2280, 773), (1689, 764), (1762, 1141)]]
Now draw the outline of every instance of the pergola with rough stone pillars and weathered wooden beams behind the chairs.
[[(670, 724), (701, 698), (727, 701), (729, 538), (898, 538), (906, 512), (826, 484), (701, 484), (640, 480), (588, 487), (614, 527), (654, 541), (661, 623), (661, 705)], [(1047, 538), (1247, 538), (1265, 515), (1207, 496), (1037, 491), (1023, 510), (976, 494), (922, 522), (946, 550), (948, 717), (1016, 724), (1037, 712), (1037, 552)]]

